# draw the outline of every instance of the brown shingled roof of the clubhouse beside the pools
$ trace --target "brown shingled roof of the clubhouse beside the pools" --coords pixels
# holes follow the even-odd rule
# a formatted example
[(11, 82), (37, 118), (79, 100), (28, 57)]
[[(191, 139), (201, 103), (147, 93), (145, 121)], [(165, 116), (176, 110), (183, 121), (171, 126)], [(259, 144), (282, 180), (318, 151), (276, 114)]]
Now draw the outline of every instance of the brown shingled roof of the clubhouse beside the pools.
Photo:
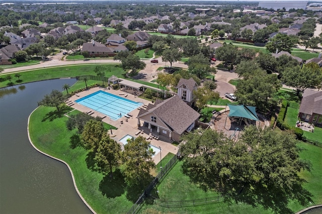
[(153, 113), (170, 129), (178, 134), (184, 133), (200, 114), (187, 105), (179, 96), (149, 104), (146, 110), (140, 109), (138, 118)]

